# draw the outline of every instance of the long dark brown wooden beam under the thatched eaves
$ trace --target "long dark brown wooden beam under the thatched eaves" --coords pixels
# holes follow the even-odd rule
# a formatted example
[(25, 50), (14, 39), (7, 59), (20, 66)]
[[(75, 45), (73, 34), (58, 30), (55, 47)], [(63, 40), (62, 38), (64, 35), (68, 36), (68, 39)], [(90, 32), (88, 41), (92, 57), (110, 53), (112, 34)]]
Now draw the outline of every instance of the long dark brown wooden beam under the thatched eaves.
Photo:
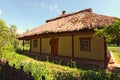
[(68, 32), (57, 32), (57, 33), (44, 33), (44, 34), (38, 34), (38, 35), (30, 35), (30, 36), (24, 36), (24, 37), (21, 37), (21, 38), (18, 38), (20, 40), (27, 40), (27, 39), (30, 39), (30, 38), (39, 38), (39, 37), (43, 37), (43, 38), (47, 38), (47, 37), (51, 37), (51, 36), (54, 36), (54, 37), (59, 37), (59, 36), (70, 36), (74, 33), (74, 35), (86, 35), (86, 34), (94, 34), (95, 31), (93, 29), (83, 29), (83, 30), (80, 30), (80, 31), (68, 31)]

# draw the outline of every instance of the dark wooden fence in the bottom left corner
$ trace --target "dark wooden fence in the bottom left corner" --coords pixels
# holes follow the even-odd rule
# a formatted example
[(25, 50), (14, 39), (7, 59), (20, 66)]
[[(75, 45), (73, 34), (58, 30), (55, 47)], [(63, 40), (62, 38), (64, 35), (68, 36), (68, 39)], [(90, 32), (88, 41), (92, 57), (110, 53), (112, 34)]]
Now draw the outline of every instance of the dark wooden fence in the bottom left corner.
[(31, 76), (31, 72), (26, 73), (23, 70), (23, 66), (20, 69), (15, 68), (15, 64), (11, 67), (8, 62), (3, 62), (0, 60), (0, 66), (2, 71), (2, 78), (4, 80), (34, 80)]

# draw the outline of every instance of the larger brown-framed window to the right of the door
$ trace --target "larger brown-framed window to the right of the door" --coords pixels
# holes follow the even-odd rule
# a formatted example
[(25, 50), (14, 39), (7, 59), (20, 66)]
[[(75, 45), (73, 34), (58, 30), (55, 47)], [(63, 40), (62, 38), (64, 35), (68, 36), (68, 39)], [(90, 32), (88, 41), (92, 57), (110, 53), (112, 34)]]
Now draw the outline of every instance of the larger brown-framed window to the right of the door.
[(91, 50), (91, 38), (80, 38), (80, 51)]

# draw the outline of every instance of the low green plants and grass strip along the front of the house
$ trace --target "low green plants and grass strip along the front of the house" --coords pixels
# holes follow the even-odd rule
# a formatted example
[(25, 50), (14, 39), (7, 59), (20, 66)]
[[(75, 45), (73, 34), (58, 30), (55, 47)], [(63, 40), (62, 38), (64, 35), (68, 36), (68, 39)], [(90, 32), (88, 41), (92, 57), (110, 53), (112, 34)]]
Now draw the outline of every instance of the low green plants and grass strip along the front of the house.
[(35, 80), (119, 80), (120, 73), (111, 73), (103, 69), (78, 69), (67, 66), (60, 66), (48, 61), (42, 62), (24, 55), (4, 50), (2, 57), (9, 61), (9, 64), (19, 69), (24, 66), (24, 71), (31, 71)]

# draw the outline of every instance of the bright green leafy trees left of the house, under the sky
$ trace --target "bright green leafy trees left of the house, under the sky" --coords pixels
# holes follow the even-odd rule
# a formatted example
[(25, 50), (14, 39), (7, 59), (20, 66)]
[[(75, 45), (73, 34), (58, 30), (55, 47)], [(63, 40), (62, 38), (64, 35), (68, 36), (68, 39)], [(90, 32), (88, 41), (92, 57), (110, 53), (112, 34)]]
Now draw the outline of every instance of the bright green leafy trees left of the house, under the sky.
[(3, 20), (0, 20), (0, 54), (3, 49), (14, 49), (17, 42), (17, 27), (11, 25), (8, 27)]

